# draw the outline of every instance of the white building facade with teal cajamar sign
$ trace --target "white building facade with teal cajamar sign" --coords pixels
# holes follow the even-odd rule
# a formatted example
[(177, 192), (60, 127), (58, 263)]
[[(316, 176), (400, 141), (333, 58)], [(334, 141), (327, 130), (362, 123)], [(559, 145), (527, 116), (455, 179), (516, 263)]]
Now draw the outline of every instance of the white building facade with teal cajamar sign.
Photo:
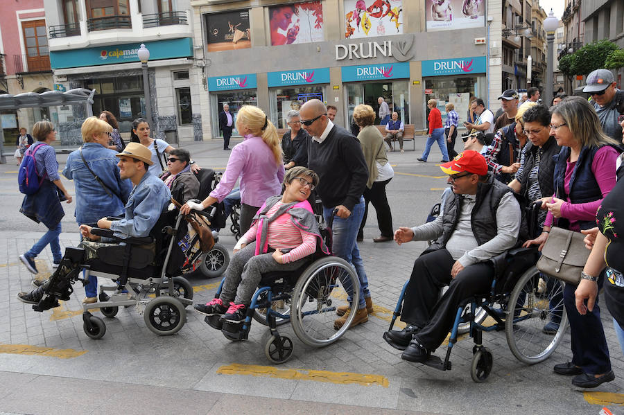
[[(128, 137), (132, 121), (148, 118), (157, 138), (171, 143), (203, 138), (193, 19), (188, 0), (44, 0), (51, 68), (61, 90), (96, 89), (93, 112), (108, 110)], [(140, 44), (150, 51), (146, 115)], [(80, 141), (82, 109), (58, 110), (68, 134)], [(73, 132), (73, 133), (69, 133)]]

